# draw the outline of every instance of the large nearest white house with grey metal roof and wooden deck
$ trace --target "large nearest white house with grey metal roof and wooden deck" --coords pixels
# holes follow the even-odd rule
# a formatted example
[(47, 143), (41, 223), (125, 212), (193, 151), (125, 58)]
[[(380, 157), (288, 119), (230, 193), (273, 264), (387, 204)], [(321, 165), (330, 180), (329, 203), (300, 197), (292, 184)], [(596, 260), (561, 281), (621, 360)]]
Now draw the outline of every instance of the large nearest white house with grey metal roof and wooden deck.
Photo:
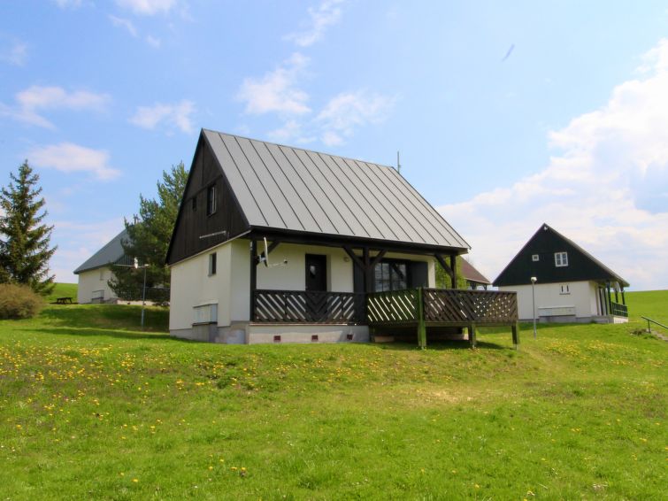
[[(429, 322), (497, 320), (476, 316), (496, 303), (510, 325), (514, 294), (431, 289), (436, 262), (456, 283), (468, 248), (392, 167), (203, 129), (166, 257), (170, 333), (310, 343), (402, 325), (424, 345)], [(465, 294), (480, 300), (443, 312)]]

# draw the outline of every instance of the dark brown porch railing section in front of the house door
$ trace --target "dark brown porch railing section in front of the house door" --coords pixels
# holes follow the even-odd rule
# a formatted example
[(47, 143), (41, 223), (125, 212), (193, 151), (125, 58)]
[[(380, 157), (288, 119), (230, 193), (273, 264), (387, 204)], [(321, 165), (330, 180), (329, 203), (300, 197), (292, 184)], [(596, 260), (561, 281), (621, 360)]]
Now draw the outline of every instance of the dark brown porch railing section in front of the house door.
[(258, 289), (253, 299), (255, 322), (366, 323), (364, 294)]

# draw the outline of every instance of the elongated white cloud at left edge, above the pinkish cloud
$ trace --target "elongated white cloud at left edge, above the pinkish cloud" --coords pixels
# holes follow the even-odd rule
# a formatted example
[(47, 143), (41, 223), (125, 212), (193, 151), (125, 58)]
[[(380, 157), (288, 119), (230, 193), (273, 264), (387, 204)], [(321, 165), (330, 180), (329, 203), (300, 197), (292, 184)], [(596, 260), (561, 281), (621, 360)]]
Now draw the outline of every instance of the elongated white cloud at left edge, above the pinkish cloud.
[(21, 90), (14, 96), (15, 104), (0, 103), (0, 115), (9, 116), (30, 125), (55, 128), (40, 114), (50, 110), (91, 110), (103, 111), (111, 101), (107, 94), (95, 94), (86, 90), (68, 92), (62, 87), (42, 87), (34, 85)]

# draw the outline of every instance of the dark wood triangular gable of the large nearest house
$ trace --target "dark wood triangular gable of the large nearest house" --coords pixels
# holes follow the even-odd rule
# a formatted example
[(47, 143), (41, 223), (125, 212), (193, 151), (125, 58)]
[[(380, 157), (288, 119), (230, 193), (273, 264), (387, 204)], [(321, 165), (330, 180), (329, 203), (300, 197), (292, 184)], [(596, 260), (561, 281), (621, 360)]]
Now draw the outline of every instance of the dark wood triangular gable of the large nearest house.
[[(215, 187), (215, 211), (210, 214), (211, 187)], [(248, 222), (211, 146), (200, 135), (167, 251), (167, 264), (194, 256), (248, 229)]]

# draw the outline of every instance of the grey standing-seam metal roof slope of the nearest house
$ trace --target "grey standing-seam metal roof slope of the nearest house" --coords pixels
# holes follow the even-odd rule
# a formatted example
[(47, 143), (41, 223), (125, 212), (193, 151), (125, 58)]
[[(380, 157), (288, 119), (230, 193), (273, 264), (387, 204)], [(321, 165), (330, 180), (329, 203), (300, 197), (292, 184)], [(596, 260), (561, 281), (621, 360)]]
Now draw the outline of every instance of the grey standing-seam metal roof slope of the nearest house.
[(394, 168), (203, 129), (250, 227), (468, 249)]

